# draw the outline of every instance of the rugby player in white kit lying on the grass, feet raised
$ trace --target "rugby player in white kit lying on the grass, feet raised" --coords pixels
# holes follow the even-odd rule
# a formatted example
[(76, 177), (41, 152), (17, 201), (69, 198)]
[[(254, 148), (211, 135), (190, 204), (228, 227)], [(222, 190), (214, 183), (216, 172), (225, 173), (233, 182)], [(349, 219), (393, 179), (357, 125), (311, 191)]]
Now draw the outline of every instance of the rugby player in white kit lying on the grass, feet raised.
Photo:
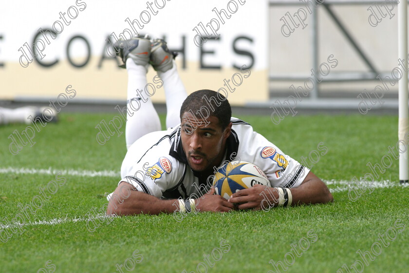
[[(231, 117), (228, 100), (211, 90), (186, 98), (174, 55), (161, 39), (135, 37), (115, 43), (128, 71), (128, 152), (115, 191), (108, 195), (108, 215), (229, 212), (282, 205), (333, 201), (327, 186), (308, 168), (285, 155), (243, 120)], [(166, 131), (160, 130), (147, 84), (147, 65), (158, 72), (167, 100)], [(137, 90), (137, 91), (135, 91)], [(179, 115), (176, 115), (175, 113)], [(170, 116), (170, 117), (169, 117)], [(178, 123), (178, 124), (176, 124)], [(271, 187), (255, 185), (229, 200), (215, 195), (212, 175), (223, 163), (240, 160), (258, 166)]]

